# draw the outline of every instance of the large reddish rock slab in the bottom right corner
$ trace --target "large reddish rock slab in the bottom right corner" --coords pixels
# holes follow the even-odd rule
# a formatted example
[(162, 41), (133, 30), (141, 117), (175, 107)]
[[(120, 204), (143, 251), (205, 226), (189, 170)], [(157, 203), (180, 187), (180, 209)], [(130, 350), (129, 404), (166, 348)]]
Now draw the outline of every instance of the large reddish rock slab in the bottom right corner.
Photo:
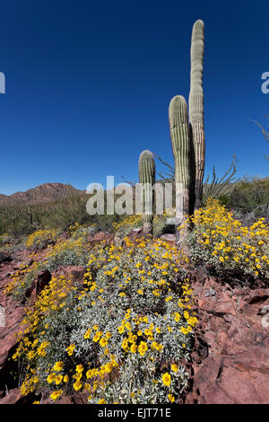
[[(268, 289), (230, 288), (194, 277), (193, 387), (186, 403), (269, 404)], [(194, 279), (193, 278), (193, 279)], [(214, 295), (208, 295), (208, 288)], [(199, 341), (198, 341), (199, 340)], [(209, 354), (203, 356), (199, 342)]]

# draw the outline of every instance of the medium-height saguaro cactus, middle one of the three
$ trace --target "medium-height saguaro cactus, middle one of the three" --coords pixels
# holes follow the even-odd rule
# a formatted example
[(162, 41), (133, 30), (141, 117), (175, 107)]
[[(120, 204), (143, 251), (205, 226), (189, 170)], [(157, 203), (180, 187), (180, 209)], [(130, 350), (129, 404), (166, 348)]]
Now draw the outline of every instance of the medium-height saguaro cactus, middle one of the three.
[(181, 224), (190, 209), (192, 151), (187, 101), (181, 95), (176, 95), (169, 103), (169, 127), (175, 158), (176, 224)]

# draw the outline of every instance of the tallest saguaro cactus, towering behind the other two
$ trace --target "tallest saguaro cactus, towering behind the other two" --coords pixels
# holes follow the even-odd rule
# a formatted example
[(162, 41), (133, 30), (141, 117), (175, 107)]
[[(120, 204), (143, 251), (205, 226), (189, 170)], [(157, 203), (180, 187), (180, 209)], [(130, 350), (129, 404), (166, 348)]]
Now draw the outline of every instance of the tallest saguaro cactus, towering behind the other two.
[(204, 179), (204, 22), (195, 22), (191, 41), (189, 122), (195, 153), (195, 209), (201, 206)]

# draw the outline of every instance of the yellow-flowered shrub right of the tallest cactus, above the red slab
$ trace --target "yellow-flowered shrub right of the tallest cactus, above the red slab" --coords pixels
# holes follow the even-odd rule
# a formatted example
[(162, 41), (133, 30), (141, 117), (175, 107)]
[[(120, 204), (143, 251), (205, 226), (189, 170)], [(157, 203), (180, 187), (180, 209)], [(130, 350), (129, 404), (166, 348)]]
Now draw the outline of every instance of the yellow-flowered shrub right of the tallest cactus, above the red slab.
[(190, 220), (194, 227), (185, 242), (194, 263), (222, 276), (229, 272), (269, 276), (269, 227), (263, 218), (250, 227), (242, 226), (217, 199), (209, 198)]

